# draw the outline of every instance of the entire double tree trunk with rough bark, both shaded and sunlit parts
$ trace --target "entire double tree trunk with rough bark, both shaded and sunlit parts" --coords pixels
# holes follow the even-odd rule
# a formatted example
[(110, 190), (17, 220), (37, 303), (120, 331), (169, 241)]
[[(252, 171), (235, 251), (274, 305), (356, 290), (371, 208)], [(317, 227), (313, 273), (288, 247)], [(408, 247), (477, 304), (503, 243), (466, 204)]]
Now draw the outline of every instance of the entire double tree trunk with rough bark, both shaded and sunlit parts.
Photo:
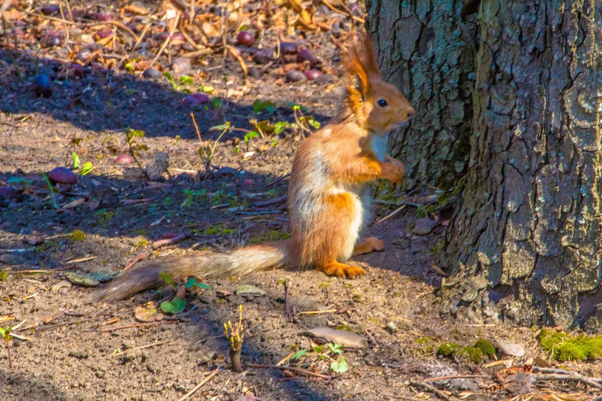
[(475, 24), (459, 0), (367, 1), (383, 77), (418, 110), (393, 145), (410, 185), (466, 177), (442, 299), (471, 320), (600, 332), (602, 8), (466, 3)]

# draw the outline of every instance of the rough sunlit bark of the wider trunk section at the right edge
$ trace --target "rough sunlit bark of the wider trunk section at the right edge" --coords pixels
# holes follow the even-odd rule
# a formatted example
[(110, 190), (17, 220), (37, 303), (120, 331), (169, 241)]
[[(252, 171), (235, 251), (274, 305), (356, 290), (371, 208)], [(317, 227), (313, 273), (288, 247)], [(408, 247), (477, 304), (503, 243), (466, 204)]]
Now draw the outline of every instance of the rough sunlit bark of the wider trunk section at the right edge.
[(473, 319), (601, 331), (602, 6), (480, 4), (467, 186), (444, 299)]

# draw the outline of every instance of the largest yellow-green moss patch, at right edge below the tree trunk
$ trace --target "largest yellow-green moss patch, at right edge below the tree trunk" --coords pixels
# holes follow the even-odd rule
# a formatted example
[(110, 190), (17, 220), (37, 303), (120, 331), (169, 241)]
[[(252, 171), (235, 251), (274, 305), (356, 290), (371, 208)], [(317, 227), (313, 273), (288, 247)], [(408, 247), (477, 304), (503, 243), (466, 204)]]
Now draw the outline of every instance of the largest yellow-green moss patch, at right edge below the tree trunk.
[(537, 336), (539, 345), (551, 352), (556, 361), (585, 361), (602, 357), (602, 335), (573, 336), (551, 329), (542, 329)]

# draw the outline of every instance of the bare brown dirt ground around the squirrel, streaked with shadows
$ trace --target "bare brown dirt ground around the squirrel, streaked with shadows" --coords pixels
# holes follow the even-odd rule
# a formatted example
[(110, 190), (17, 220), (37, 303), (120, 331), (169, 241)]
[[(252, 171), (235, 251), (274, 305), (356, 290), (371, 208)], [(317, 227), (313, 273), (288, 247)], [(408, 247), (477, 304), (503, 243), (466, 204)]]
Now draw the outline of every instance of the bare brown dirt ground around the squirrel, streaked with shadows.
[[(312, 44), (325, 66), (339, 69), (338, 51), (328, 34), (296, 40)], [(29, 78), (39, 67), (56, 73), (65, 63), (60, 49), (45, 49), (36, 57), (22, 50), (17, 64)], [(169, 51), (178, 54), (178, 49)], [(5, 41), (0, 58), (10, 69)], [(159, 60), (169, 64), (167, 57)], [(289, 103), (305, 106), (305, 115), (325, 124), (335, 113), (341, 85), (337, 75), (319, 83), (287, 83), (278, 72), (250, 77), (244, 84), (239, 64), (214, 54), (204, 65), (193, 64), (197, 73), (191, 85), (211, 85), (214, 90), (209, 96), (219, 99), (205, 109), (205, 105), (183, 103), (185, 94), (165, 77), (147, 79), (141, 72), (132, 75), (117, 67), (108, 72), (87, 65), (92, 67), (80, 78), (56, 79), (49, 97), (36, 96), (29, 78), (19, 82), (14, 70), (0, 78), (0, 186), (18, 190), (15, 197), (0, 196), (0, 266), (9, 273), (0, 281), (0, 326), (22, 323), (14, 333), (29, 338), (11, 341), (12, 369), (5, 347), (0, 347), (3, 399), (176, 400), (216, 369), (218, 373), (187, 399), (518, 397), (497, 381), (495, 372), (504, 364), (492, 364), (496, 359), (523, 366), (541, 358), (552, 366), (602, 377), (595, 362), (551, 361), (538, 346), (535, 330), (503, 322), (458, 321), (441, 314), (436, 298), (441, 276), (432, 268), (431, 253), (441, 242), (444, 227), (438, 224), (428, 234), (416, 234), (418, 213), (411, 206), (368, 228), (387, 246), (385, 251), (355, 258), (367, 270), (356, 280), (275, 270), (208, 281), (209, 289), (187, 292), (182, 313), (161, 320), (165, 324), (148, 326), (139, 325), (135, 307), (150, 300), (159, 305), (173, 298), (172, 290), (149, 290), (114, 305), (95, 302), (94, 296), (106, 284), (67, 283), (68, 272), (117, 273), (139, 253), (160, 260), (275, 239), (287, 231), (284, 203), (277, 200), (286, 192), (287, 179), (282, 177), (290, 171), (299, 144), (296, 139), (303, 133), (288, 129), (253, 139), (249, 150), (255, 153), (245, 155), (243, 140), (240, 151), (233, 152), (235, 136), (242, 139), (244, 132), (230, 131), (216, 145), (216, 174), (205, 176), (191, 112), (202, 140), (213, 145), (220, 132), (209, 128), (225, 121), (243, 129), (250, 129), (253, 118), (294, 122)], [(254, 111), (256, 100), (271, 100), (275, 110), (272, 114)], [(126, 127), (144, 130), (143, 138), (134, 142), (146, 147), (139, 151), (140, 164), (152, 166), (164, 152), (169, 156), (169, 175), (149, 182), (135, 163), (115, 162), (117, 156), (129, 154)], [(40, 172), (72, 167), (72, 152), (82, 165), (91, 162), (93, 170), (78, 175), (75, 185), (56, 186), (57, 210)], [(430, 194), (411, 197), (420, 199), (420, 195)], [(258, 206), (269, 200), (275, 201)], [(394, 209), (376, 204), (373, 223)], [(85, 236), (73, 235), (76, 230)], [(154, 248), (155, 241), (178, 234), (187, 237)], [(235, 295), (242, 284), (265, 294)], [(297, 312), (294, 321), (286, 304)], [(247, 367), (234, 373), (229, 369), (223, 323), (238, 319), (239, 305), (247, 328), (242, 351)], [(122, 327), (128, 325), (132, 326)], [(311, 349), (308, 337), (300, 333), (317, 327), (350, 330), (364, 337), (363, 348), (342, 353), (349, 364), (347, 372), (330, 370), (329, 358), (337, 355), (320, 359), (311, 357), (311, 352), (283, 365), (329, 379), (249, 366), (276, 365), (297, 350)], [(439, 344), (453, 341), (471, 346), (479, 338), (520, 343), (526, 353), (511, 357), (498, 350), (495, 358), (480, 363), (435, 355)], [(412, 385), (428, 378), (426, 383), (446, 393), (437, 396)], [(599, 390), (571, 382), (539, 382), (533, 389), (528, 393), (541, 399), (553, 399), (545, 398), (549, 394), (566, 400), (600, 396)]]

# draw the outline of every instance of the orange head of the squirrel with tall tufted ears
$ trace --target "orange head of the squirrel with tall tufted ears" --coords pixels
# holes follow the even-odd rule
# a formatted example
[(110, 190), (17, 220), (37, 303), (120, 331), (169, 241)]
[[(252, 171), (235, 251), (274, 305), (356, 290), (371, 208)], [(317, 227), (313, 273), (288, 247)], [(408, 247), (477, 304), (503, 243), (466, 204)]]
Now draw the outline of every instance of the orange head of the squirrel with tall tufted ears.
[(356, 34), (343, 50), (343, 69), (344, 117), (355, 118), (371, 132), (385, 133), (416, 112), (398, 88), (380, 78), (374, 47), (365, 32)]

